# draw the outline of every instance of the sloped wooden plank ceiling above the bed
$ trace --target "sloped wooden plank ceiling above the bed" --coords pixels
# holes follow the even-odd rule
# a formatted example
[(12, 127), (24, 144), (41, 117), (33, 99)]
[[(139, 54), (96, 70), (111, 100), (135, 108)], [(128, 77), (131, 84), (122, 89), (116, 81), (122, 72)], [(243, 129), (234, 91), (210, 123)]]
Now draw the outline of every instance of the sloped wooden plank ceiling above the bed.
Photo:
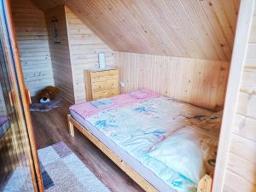
[(113, 50), (230, 61), (239, 0), (34, 0), (65, 3)]

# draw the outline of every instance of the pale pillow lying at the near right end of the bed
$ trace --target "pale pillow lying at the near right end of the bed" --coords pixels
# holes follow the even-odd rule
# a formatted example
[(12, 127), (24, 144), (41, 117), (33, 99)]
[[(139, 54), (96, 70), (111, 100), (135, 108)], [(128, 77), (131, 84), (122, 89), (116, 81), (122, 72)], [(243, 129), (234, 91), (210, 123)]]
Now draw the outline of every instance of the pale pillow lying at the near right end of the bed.
[(156, 144), (148, 154), (183, 177), (198, 183), (208, 171), (207, 160), (216, 158), (217, 145), (218, 138), (207, 131), (185, 127)]

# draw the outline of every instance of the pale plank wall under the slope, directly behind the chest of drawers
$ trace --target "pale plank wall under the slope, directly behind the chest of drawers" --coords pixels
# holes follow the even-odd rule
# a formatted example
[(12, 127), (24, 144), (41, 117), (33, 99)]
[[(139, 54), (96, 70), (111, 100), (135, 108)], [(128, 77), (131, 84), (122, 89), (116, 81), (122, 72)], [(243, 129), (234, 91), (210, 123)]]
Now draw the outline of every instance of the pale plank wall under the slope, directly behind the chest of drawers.
[(113, 66), (113, 51), (65, 6), (75, 103), (85, 101), (84, 69), (98, 67), (98, 54)]

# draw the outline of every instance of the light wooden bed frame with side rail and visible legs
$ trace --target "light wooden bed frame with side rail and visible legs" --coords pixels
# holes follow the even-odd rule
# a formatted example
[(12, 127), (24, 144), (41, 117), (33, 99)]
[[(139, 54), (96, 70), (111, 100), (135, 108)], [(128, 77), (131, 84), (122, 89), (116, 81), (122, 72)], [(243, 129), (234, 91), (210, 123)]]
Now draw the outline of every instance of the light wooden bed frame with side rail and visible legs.
[[(94, 143), (97, 148), (100, 148), (104, 154), (108, 156), (110, 160), (119, 166), (121, 170), (123, 170), (129, 177), (131, 177), (141, 188), (145, 191), (156, 192), (157, 189), (147, 180), (145, 180), (139, 173), (137, 173), (131, 166), (128, 166), (122, 159), (119, 158), (117, 154), (114, 154), (105, 144), (103, 144), (99, 139), (97, 139), (94, 135), (87, 131), (83, 125), (80, 125), (76, 119), (70, 114), (67, 114), (68, 128), (69, 133), (72, 137), (74, 137), (74, 127), (77, 128), (85, 137), (87, 137), (90, 142)], [(197, 192), (211, 192), (212, 189), (212, 177), (206, 175), (201, 178), (201, 181), (198, 183)]]

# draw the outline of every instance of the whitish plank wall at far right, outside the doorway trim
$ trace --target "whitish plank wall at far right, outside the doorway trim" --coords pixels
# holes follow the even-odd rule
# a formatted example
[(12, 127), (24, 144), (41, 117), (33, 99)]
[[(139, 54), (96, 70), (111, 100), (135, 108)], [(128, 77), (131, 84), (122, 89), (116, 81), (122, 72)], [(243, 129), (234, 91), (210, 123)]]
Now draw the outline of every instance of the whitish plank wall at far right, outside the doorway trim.
[(232, 128), (224, 191), (256, 191), (256, 9)]

